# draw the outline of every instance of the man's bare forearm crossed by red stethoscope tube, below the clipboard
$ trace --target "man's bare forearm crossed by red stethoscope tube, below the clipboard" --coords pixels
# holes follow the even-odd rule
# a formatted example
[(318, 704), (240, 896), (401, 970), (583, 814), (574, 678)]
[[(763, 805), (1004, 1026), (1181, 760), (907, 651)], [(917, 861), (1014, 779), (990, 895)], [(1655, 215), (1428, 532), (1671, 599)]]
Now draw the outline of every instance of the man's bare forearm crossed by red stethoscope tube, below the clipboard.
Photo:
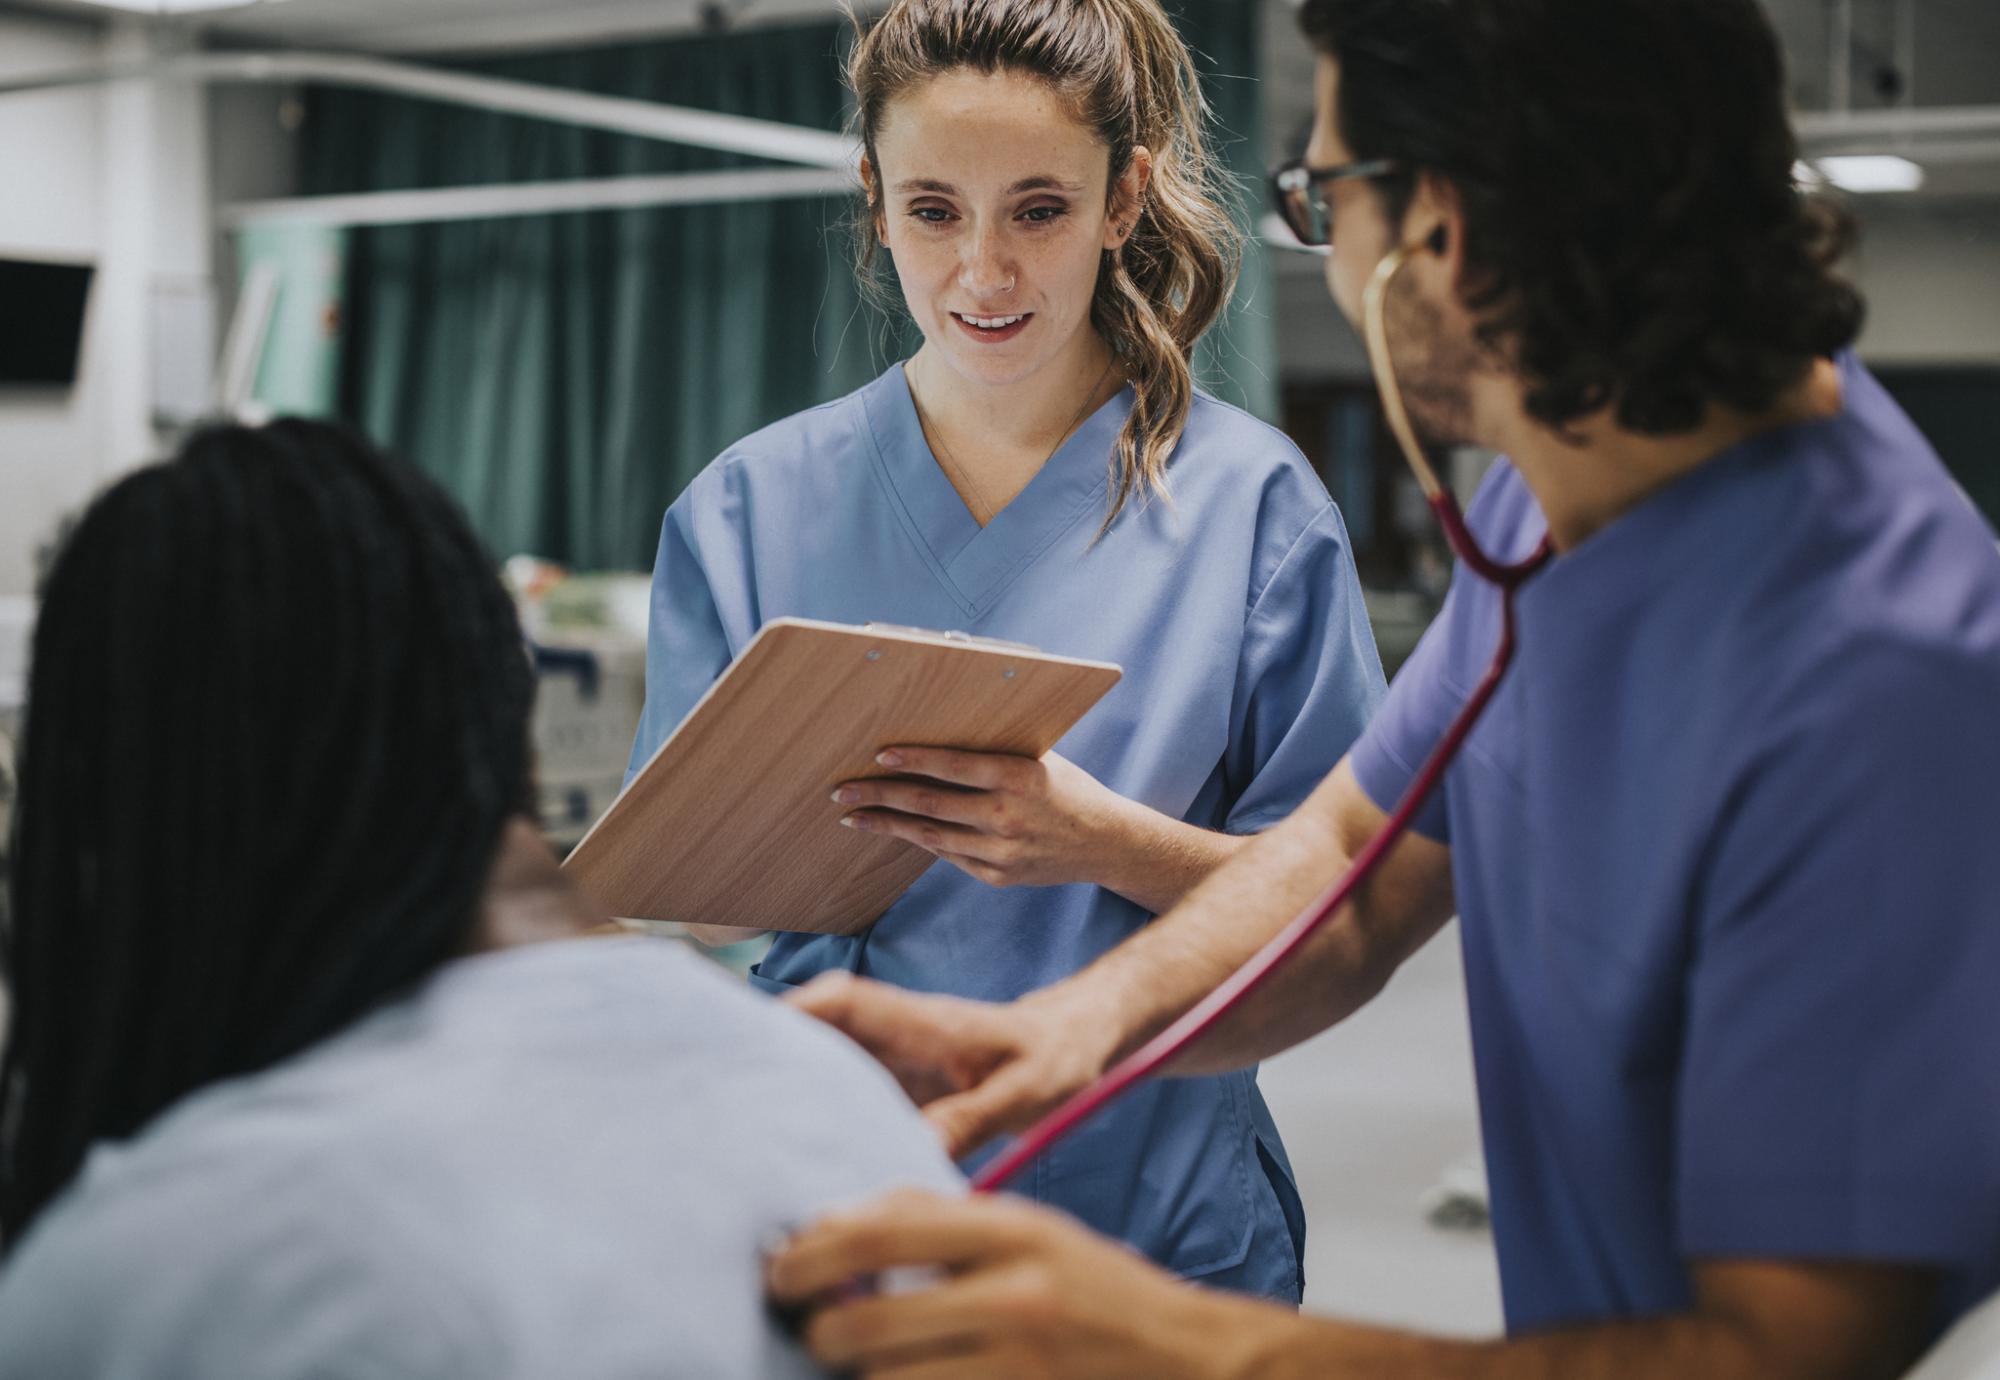
[[(1292, 818), (1248, 840), (1172, 912), (1040, 998), (1110, 1018), (1132, 1050), (1254, 956), (1348, 866), (1358, 788), (1342, 766)], [(1372, 812), (1372, 806), (1366, 810)], [(1416, 850), (1414, 856), (1410, 850)], [(1428, 854), (1424, 854), (1428, 850)], [(1442, 876), (1442, 882), (1440, 882)], [(1448, 854), (1412, 840), (1174, 1072), (1238, 1068), (1346, 1018), (1450, 916)]]

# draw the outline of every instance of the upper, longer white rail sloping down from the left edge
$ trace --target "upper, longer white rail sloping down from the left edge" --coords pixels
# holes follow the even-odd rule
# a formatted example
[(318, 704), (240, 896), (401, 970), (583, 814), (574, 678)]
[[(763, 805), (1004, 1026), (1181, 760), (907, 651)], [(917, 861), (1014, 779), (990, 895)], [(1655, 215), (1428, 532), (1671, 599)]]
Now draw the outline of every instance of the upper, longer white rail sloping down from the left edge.
[(860, 160), (852, 140), (828, 130), (332, 52), (200, 52), (156, 62), (98, 64), (6, 78), (0, 80), (0, 96), (130, 80), (358, 86), (812, 168), (852, 168)]

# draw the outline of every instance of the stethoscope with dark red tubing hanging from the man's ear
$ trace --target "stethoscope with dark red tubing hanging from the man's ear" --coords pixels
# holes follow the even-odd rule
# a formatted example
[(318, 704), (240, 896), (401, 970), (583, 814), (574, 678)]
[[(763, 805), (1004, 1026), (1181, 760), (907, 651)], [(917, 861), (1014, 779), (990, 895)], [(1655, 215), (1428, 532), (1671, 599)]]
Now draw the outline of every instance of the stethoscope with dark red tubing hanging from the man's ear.
[(1382, 394), (1382, 408), (1388, 414), (1390, 430), (1396, 434), (1396, 442), (1402, 446), (1410, 468), (1416, 472), (1416, 482), (1424, 490), (1424, 502), (1428, 502), (1430, 510), (1438, 514), (1438, 524), (1444, 528), (1444, 540), (1450, 542), (1452, 554), (1456, 554), (1468, 570), (1500, 590), (1500, 644), (1494, 648), (1492, 666), (1486, 668), (1486, 676), (1480, 680), (1478, 688), (1458, 710), (1450, 728), (1444, 730), (1438, 746), (1430, 750), (1422, 770), (1402, 792), (1402, 800), (1396, 802), (1388, 822), (1368, 842), (1368, 846), (1362, 848), (1354, 862), (1348, 864), (1346, 874), (1326, 888), (1318, 900), (1306, 906), (1298, 918), (1280, 930), (1268, 944), (1264, 944), (1264, 948), (1244, 962), (1242, 968), (1230, 974), (1222, 986), (1202, 998), (1202, 1002), (1190, 1008), (1180, 1020), (1114, 1064), (1094, 1084), (1072, 1094), (1062, 1106), (1022, 1132), (1004, 1152), (994, 1156), (978, 1174), (974, 1174), (972, 1192), (990, 1194), (1000, 1190), (1016, 1174), (1028, 1168), (1036, 1156), (1068, 1136), (1082, 1122), (1090, 1120), (1106, 1104), (1178, 1058), (1188, 1046), (1208, 1034), (1224, 1016), (1236, 1010), (1238, 1004), (1248, 1000), (1252, 992), (1270, 980), (1270, 976), (1278, 972), (1292, 958), (1292, 954), (1296, 954), (1300, 946), (1320, 930), (1320, 926), (1332, 920), (1334, 912), (1338, 912), (1340, 906), (1346, 904), (1348, 896), (1352, 896), (1354, 890), (1374, 874), (1382, 858), (1388, 856), (1388, 850), (1410, 828), (1410, 820), (1416, 818), (1418, 808), (1422, 808), (1424, 800), (1444, 778), (1444, 768), (1452, 764), (1454, 756), (1458, 756), (1458, 750), (1472, 734), (1474, 724), (1480, 722), (1480, 714), (1484, 714), (1488, 702), (1492, 702), (1494, 690), (1500, 688), (1500, 678), (1506, 674), (1508, 664), (1514, 660), (1514, 594), (1536, 570), (1548, 564), (1552, 548), (1548, 538), (1542, 538), (1542, 544), (1526, 560), (1514, 564), (1492, 560), (1472, 538), (1472, 530), (1466, 526), (1466, 518), (1458, 510), (1458, 502), (1452, 498), (1450, 490), (1438, 482), (1438, 474), (1424, 456), (1424, 448), (1416, 442), (1416, 430), (1410, 426), (1410, 414), (1402, 406), (1402, 388), (1396, 384), (1396, 370), (1390, 364), (1386, 306), (1390, 284), (1418, 248), (1420, 246), (1406, 244), (1394, 250), (1380, 264), (1376, 264), (1376, 270), (1368, 280), (1368, 292), (1362, 298), (1368, 358), (1374, 364), (1376, 388)]

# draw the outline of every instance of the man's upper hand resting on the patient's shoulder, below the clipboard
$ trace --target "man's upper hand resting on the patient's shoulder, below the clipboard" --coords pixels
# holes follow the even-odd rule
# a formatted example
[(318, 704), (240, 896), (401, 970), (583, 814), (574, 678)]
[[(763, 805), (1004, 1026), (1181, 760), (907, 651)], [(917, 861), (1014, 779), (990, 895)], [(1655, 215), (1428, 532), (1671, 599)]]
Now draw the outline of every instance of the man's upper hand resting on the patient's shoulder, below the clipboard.
[(880, 1060), (954, 1158), (1030, 1126), (1116, 1054), (1108, 1022), (1064, 988), (994, 1004), (832, 972), (786, 1000)]

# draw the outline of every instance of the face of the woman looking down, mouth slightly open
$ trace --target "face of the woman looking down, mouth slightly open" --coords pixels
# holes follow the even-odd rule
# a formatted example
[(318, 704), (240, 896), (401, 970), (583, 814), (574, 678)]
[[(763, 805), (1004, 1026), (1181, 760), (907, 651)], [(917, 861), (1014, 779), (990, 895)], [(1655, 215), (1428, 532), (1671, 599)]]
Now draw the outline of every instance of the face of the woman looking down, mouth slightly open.
[(1082, 358), (1102, 254), (1126, 236), (1110, 150), (1054, 90), (946, 72), (888, 106), (874, 154), (876, 224), (940, 362), (1004, 386)]

